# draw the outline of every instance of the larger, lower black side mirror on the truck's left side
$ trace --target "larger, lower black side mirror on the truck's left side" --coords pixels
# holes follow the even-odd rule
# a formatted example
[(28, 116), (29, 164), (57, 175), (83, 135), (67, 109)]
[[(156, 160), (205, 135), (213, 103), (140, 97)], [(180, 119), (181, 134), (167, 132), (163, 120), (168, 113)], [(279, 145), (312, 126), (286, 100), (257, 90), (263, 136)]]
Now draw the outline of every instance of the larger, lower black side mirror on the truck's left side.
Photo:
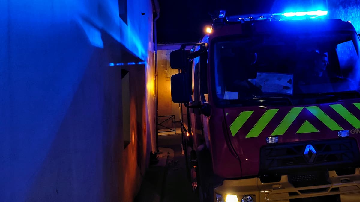
[(186, 72), (171, 76), (171, 99), (174, 103), (188, 103), (190, 98), (189, 81)]

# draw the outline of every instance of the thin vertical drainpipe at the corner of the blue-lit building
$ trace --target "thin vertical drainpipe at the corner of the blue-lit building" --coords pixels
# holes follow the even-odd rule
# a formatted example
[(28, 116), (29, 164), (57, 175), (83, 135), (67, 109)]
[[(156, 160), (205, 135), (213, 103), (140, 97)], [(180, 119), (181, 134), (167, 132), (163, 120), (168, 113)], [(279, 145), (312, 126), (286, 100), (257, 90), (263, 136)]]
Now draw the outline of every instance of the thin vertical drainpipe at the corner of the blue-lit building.
[(159, 141), (158, 141), (158, 61), (157, 61), (157, 34), (156, 34), (156, 20), (160, 17), (160, 7), (158, 0), (153, 0), (154, 9), (156, 10), (156, 17), (153, 20), (153, 35), (154, 35), (154, 52), (155, 52), (155, 133), (156, 133), (156, 152), (159, 152)]

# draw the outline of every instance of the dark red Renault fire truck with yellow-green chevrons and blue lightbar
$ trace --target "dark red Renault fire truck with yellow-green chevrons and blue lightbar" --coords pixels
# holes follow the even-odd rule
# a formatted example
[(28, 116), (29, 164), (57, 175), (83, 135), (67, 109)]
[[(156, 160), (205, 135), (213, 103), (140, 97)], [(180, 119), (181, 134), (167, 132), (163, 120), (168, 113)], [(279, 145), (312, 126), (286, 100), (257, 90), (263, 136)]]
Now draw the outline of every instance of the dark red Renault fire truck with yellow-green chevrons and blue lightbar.
[(360, 201), (360, 41), (327, 15), (220, 11), (171, 52), (200, 201)]

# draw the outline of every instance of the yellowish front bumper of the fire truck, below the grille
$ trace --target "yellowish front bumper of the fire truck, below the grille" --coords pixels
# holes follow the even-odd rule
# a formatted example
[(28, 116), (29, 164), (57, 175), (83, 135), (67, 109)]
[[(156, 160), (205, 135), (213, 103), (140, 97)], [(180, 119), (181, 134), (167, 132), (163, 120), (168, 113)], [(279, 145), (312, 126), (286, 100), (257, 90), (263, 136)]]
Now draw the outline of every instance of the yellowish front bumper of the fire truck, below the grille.
[(254, 202), (291, 202), (292, 199), (330, 195), (338, 195), (341, 202), (360, 201), (360, 168), (353, 175), (338, 176), (335, 171), (329, 171), (328, 182), (330, 184), (294, 187), (287, 175), (274, 183), (261, 183), (260, 178), (224, 180), (214, 189), (214, 201), (218, 202), (216, 194), (235, 194), (239, 202), (245, 195), (251, 196)]

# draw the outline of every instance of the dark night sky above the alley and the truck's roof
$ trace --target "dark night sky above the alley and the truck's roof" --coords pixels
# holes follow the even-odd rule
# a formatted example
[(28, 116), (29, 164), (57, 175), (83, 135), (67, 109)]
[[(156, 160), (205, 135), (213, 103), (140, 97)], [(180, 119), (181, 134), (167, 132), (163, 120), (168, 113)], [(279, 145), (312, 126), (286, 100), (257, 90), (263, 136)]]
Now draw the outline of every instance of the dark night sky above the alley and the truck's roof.
[(274, 0), (159, 0), (158, 43), (198, 42), (211, 26), (209, 12), (224, 9), (227, 13), (270, 12)]

